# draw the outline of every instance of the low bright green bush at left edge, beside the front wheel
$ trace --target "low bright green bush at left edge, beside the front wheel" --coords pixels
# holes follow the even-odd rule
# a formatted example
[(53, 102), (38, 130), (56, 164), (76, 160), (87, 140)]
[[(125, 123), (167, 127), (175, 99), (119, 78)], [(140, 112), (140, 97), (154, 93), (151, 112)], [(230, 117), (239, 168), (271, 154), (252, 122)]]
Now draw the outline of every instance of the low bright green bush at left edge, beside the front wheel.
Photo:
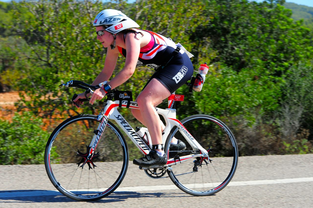
[(0, 119), (0, 165), (44, 163), (49, 133), (42, 125), (30, 112), (16, 113), (12, 122)]

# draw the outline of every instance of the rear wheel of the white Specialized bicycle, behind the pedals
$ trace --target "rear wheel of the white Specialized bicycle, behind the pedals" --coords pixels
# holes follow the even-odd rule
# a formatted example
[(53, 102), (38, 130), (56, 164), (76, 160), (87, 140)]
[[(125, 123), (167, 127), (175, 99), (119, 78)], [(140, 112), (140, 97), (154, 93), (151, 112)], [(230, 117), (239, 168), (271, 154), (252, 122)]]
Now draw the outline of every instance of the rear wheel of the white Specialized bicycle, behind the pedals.
[[(197, 157), (180, 163), (177, 159), (176, 165), (170, 166), (172, 170), (167, 170), (169, 177), (179, 189), (193, 196), (209, 196), (221, 191), (232, 179), (238, 164), (238, 147), (233, 133), (222, 121), (207, 115), (189, 116), (181, 123), (208, 151), (212, 161)], [(177, 127), (173, 127), (167, 137), (166, 151), (172, 137), (185, 142), (187, 147), (178, 156), (200, 153), (192, 149)]]

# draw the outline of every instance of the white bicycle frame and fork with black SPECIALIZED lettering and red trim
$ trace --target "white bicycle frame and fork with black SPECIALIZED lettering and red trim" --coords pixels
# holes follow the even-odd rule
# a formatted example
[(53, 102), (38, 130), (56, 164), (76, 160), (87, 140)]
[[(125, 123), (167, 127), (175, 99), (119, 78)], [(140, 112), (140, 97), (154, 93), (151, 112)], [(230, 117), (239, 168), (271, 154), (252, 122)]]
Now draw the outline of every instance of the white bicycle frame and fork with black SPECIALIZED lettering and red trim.
[[(133, 109), (139, 109), (137, 102), (135, 101), (121, 101), (122, 105), (121, 107), (126, 108), (127, 103), (130, 102), (129, 108)], [(131, 127), (131, 125), (124, 119), (124, 117), (120, 114), (120, 112), (117, 110), (119, 107), (120, 101), (111, 101), (108, 100), (105, 104), (105, 108), (103, 111), (100, 112), (100, 115), (97, 117), (97, 119), (101, 121), (99, 124), (97, 130), (98, 132), (95, 134), (93, 137), (91, 143), (90, 143), (90, 153), (88, 155), (88, 158), (91, 158), (93, 153), (95, 152), (95, 148), (97, 147), (102, 133), (105, 129), (105, 126), (108, 122), (108, 119), (114, 120), (120, 127), (121, 129), (125, 132), (125, 134), (131, 139), (131, 141), (136, 145), (136, 147), (142, 152), (142, 154), (146, 155), (151, 151), (151, 148), (149, 145), (147, 145), (141, 137), (135, 132), (135, 130)], [(165, 144), (165, 141), (167, 139), (167, 136), (169, 135), (171, 129), (174, 126), (178, 127), (178, 131), (181, 132), (181, 134), (184, 136), (186, 141), (190, 144), (193, 150), (200, 150), (201, 154), (192, 154), (192, 155), (187, 155), (187, 156), (182, 156), (178, 159), (169, 159), (167, 161), (167, 165), (175, 165), (176, 161), (186, 161), (187, 159), (190, 158), (195, 158), (195, 157), (207, 157), (208, 158), (208, 151), (205, 150), (195, 139), (194, 137), (187, 131), (187, 129), (182, 125), (182, 123), (176, 119), (176, 109), (161, 109), (161, 108), (156, 108), (156, 112), (164, 117), (164, 120), (166, 122), (166, 126), (164, 129), (164, 134), (162, 134), (162, 142), (163, 145)], [(168, 152), (167, 152), (168, 154)], [(209, 158), (208, 158), (209, 159)]]

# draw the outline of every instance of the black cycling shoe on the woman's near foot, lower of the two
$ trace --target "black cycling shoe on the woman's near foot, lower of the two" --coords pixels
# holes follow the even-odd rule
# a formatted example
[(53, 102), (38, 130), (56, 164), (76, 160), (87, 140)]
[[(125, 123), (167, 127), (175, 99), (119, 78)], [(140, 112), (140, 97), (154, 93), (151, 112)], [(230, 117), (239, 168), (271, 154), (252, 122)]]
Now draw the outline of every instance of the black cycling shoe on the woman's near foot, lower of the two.
[(159, 155), (155, 150), (151, 150), (149, 154), (141, 157), (140, 159), (134, 159), (133, 163), (141, 167), (158, 167), (164, 166), (167, 163), (166, 154), (164, 156)]

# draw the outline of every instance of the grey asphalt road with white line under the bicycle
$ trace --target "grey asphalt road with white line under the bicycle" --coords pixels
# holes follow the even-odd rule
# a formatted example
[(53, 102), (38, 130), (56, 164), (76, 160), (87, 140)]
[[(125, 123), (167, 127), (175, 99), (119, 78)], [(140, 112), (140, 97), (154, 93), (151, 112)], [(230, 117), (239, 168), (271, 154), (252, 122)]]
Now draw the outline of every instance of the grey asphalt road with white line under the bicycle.
[(55, 191), (44, 165), (0, 166), (0, 207), (312, 207), (313, 154), (239, 157), (232, 181), (213, 196), (191, 196), (172, 185), (130, 161), (119, 189), (79, 202)]

